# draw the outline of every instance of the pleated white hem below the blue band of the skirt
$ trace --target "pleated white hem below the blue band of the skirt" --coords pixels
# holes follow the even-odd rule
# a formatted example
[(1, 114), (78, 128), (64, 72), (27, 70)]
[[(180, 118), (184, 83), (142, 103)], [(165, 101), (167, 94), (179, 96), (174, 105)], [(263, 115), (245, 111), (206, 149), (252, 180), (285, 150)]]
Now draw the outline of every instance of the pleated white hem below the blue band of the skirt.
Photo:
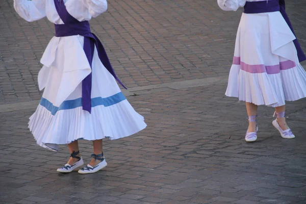
[(115, 140), (145, 129), (144, 118), (125, 99), (112, 106), (96, 106), (91, 114), (82, 107), (60, 110), (55, 115), (39, 105), (29, 128), (38, 145), (57, 151), (58, 145), (75, 140)]

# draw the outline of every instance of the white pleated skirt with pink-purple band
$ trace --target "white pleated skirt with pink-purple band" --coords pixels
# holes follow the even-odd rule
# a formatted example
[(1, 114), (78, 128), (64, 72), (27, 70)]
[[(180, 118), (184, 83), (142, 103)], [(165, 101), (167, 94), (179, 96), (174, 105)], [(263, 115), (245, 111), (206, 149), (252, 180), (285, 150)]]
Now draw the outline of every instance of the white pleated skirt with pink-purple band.
[(306, 97), (306, 72), (280, 12), (242, 14), (226, 96), (278, 107)]

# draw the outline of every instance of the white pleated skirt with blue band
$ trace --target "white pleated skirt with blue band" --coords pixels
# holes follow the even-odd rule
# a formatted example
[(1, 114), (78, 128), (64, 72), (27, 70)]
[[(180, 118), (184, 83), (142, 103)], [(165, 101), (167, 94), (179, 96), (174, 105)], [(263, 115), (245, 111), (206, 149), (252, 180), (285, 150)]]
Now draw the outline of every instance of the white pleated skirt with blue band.
[(82, 80), (91, 72), (83, 42), (82, 36), (55, 37), (41, 60), (44, 66), (38, 82), (44, 92), (30, 117), (29, 128), (37, 144), (50, 150), (57, 151), (59, 144), (79, 139), (119, 139), (146, 127), (144, 118), (133, 109), (100, 62), (96, 49), (91, 114), (82, 109)]

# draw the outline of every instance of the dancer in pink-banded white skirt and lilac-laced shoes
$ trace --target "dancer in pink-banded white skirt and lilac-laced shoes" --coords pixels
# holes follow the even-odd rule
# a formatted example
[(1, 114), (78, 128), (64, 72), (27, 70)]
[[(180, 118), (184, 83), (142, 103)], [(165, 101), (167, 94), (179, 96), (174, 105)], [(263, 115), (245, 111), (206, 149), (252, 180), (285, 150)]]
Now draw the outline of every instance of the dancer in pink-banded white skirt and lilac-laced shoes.
[(306, 97), (306, 57), (285, 12), (284, 0), (217, 0), (224, 11), (244, 6), (226, 95), (246, 102), (247, 142), (257, 139), (257, 107), (275, 108), (272, 124), (283, 138), (294, 138), (285, 120), (285, 101)]

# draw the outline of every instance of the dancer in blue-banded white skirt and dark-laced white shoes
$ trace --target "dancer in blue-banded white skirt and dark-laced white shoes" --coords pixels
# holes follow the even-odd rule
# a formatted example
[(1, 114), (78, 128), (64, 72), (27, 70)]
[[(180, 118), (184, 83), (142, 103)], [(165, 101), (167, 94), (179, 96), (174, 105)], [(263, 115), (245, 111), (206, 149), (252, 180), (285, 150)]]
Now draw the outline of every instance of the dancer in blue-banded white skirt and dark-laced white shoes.
[(93, 173), (107, 163), (102, 139), (119, 139), (146, 127), (120, 91), (113, 68), (88, 20), (107, 10), (106, 0), (14, 0), (16, 12), (27, 21), (47, 17), (55, 24), (53, 37), (41, 58), (38, 74), (40, 104), (29, 127), (42, 147), (57, 151), (68, 144), (71, 157), (59, 172), (84, 164), (78, 140), (93, 141), (92, 161), (79, 173)]

